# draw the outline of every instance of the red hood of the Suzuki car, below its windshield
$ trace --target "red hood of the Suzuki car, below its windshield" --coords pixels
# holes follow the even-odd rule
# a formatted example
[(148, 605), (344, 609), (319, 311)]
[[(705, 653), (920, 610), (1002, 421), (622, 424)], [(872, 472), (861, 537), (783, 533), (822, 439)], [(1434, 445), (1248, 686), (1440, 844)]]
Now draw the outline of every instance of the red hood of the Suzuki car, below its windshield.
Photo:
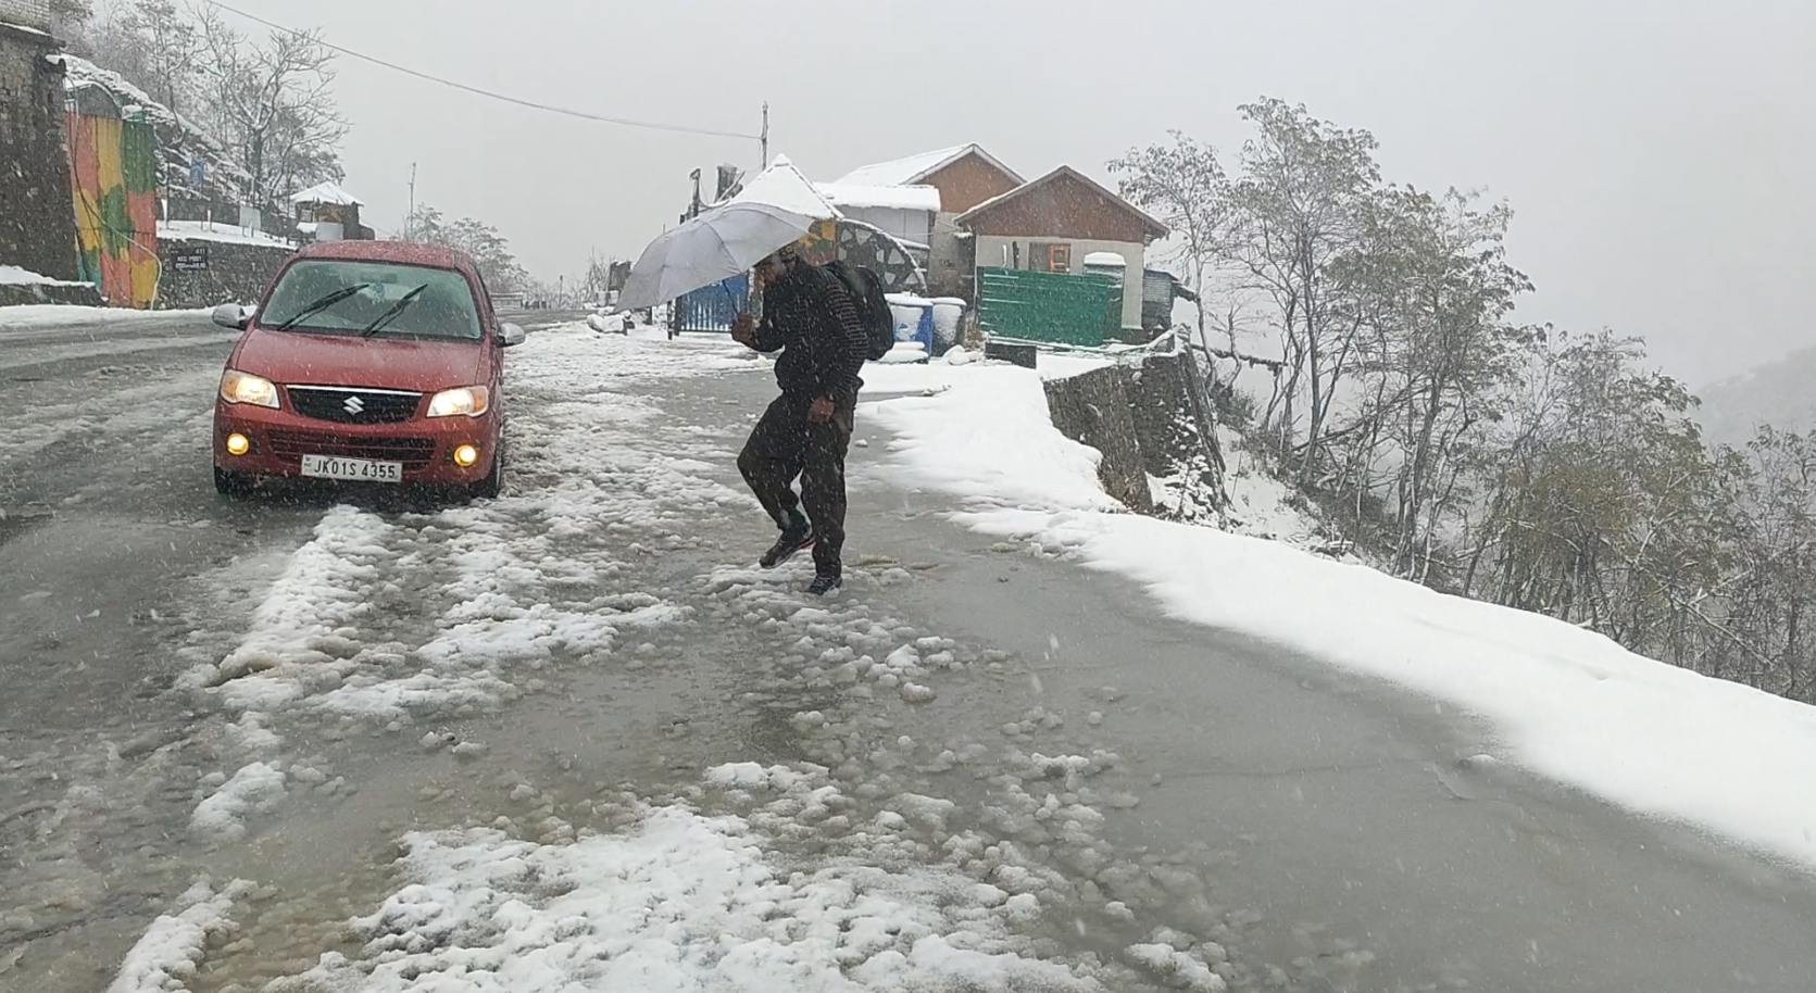
[(252, 329), (232, 365), (272, 383), (432, 392), (483, 383), (478, 341)]

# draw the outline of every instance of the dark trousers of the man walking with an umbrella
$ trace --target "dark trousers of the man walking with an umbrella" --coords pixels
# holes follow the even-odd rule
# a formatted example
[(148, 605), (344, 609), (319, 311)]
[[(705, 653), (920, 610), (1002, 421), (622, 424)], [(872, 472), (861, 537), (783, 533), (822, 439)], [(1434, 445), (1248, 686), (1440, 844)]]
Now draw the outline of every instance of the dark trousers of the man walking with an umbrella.
[[(786, 528), (795, 508), (804, 505), (814, 525), (814, 566), (821, 575), (841, 575), (844, 548), (844, 452), (852, 443), (857, 401), (834, 408), (832, 419), (814, 425), (806, 419), (812, 401), (779, 396), (763, 412), (757, 427), (737, 456), (737, 470), (763, 508)], [(801, 499), (794, 479), (801, 477)]]

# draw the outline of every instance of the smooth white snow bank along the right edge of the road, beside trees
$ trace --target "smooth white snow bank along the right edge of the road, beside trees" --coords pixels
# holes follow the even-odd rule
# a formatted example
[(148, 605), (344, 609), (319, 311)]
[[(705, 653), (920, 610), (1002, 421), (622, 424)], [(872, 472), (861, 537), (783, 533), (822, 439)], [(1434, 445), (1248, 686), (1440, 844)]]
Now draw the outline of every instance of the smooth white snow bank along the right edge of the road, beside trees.
[[(1803, 788), (1816, 782), (1816, 710), (1536, 614), (1275, 541), (1117, 514), (1091, 452), (1050, 425), (1033, 372), (921, 374), (946, 388), (864, 414), (897, 434), (892, 476), (952, 494), (968, 526), (1137, 579), (1177, 617), (1458, 704), (1493, 723), (1511, 761), (1542, 775), (1816, 866), (1816, 791)], [(1264, 485), (1248, 487), (1251, 508), (1280, 503)]]

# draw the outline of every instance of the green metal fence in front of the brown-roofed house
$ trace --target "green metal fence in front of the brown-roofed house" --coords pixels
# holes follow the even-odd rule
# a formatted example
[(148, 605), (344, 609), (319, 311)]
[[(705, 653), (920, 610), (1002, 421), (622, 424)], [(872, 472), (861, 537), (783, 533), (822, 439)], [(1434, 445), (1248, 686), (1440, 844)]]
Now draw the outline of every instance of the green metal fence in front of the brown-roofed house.
[(977, 325), (997, 338), (1095, 349), (1119, 339), (1122, 289), (1102, 274), (979, 269)]

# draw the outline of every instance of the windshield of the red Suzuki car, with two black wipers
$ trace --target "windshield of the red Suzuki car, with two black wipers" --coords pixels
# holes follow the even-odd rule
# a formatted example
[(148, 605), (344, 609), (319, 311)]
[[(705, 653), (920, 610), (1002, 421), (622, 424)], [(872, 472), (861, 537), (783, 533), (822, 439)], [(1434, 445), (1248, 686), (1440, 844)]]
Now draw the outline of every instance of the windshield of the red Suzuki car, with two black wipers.
[(465, 276), (387, 261), (298, 261), (283, 272), (258, 323), (329, 334), (479, 338), (479, 309)]

